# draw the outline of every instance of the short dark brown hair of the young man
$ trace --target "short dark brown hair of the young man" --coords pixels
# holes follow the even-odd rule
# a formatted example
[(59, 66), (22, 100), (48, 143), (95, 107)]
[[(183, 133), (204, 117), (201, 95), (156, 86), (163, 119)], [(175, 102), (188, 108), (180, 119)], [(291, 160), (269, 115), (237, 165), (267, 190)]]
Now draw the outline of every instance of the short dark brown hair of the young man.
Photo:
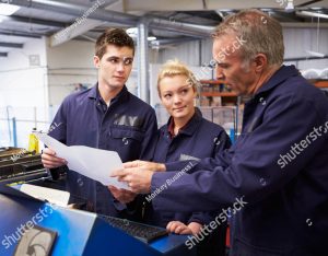
[(95, 55), (102, 59), (106, 53), (107, 45), (115, 45), (118, 47), (129, 47), (133, 50), (134, 55), (134, 43), (133, 39), (121, 28), (108, 28), (98, 38), (95, 44)]

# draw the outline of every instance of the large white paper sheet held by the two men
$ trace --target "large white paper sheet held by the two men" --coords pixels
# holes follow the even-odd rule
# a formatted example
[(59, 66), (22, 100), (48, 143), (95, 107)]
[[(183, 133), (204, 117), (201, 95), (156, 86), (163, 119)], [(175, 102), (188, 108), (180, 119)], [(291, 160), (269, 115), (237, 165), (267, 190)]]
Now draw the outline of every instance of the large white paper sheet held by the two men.
[(43, 132), (34, 132), (37, 138), (56, 152), (58, 158), (67, 160), (68, 167), (86, 177), (130, 190), (127, 183), (109, 177), (114, 170), (122, 168), (122, 162), (115, 151), (94, 149), (85, 146), (66, 146)]

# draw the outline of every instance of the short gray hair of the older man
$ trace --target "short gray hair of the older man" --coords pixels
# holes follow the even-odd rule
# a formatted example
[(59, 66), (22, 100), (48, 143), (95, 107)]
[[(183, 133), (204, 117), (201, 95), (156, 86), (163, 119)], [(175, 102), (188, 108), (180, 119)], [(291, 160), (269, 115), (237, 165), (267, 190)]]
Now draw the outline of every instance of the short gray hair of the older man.
[(269, 66), (282, 65), (283, 35), (277, 20), (256, 9), (244, 10), (225, 19), (215, 27), (212, 36), (215, 38), (232, 33), (246, 42), (241, 47), (245, 62), (249, 62), (257, 54), (263, 54)]

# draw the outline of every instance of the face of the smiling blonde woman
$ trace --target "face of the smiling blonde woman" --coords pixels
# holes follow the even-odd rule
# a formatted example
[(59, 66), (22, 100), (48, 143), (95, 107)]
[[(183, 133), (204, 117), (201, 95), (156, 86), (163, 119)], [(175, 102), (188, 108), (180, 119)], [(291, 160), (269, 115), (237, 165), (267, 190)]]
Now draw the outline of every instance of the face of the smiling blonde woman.
[(196, 92), (186, 75), (178, 74), (162, 79), (160, 95), (163, 105), (174, 119), (192, 117)]

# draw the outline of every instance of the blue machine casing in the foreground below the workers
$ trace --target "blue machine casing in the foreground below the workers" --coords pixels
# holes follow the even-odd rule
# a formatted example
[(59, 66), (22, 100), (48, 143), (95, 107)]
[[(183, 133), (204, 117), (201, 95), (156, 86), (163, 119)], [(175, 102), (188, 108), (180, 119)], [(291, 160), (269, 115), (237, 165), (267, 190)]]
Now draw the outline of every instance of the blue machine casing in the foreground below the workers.
[[(0, 185), (0, 255), (13, 255), (24, 229), (40, 226), (56, 233), (51, 254), (108, 256), (191, 256), (186, 235), (169, 234), (149, 244), (115, 229), (97, 214), (52, 206)], [(30, 245), (27, 251), (33, 248)], [(36, 245), (35, 245), (36, 246)], [(26, 252), (25, 255), (30, 255)], [(37, 255), (37, 254), (36, 254)]]

